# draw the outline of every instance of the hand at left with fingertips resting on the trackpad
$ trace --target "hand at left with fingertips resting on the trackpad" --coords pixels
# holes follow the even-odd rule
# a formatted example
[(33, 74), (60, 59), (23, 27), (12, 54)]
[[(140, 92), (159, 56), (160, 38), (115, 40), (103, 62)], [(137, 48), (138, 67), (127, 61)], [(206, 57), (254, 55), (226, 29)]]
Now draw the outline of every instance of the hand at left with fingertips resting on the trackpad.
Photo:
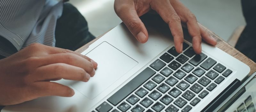
[(0, 60), (0, 105), (14, 105), (44, 96), (71, 97), (74, 90), (51, 81), (87, 82), (97, 63), (66, 49), (31, 44)]

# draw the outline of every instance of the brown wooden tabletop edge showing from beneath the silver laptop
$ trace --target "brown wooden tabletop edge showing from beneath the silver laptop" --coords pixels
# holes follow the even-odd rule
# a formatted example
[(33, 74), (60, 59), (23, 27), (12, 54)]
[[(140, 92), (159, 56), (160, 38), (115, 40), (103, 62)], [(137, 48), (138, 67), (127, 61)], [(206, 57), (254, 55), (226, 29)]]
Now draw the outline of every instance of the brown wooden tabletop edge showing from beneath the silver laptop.
[[(200, 26), (202, 26), (199, 23)], [(236, 50), (234, 47), (232, 47), (231, 45), (229, 45), (228, 43), (226, 43), (223, 39), (221, 39), (219, 36), (217, 36), (216, 34), (214, 34), (212, 31), (210, 31), (209, 29), (205, 28), (204, 26), (202, 26), (213, 38), (215, 38), (217, 40), (217, 45), (216, 47), (218, 47), (219, 49), (221, 49), (224, 52), (227, 52), (229, 55), (235, 57), (236, 59), (244, 62), (246, 65), (248, 65), (251, 68), (250, 71), (250, 75), (252, 75), (252, 73), (256, 72), (256, 63), (254, 61), (252, 61), (251, 59), (249, 59), (247, 56), (245, 56), (243, 53), (239, 52), (238, 50)], [(106, 32), (108, 33), (108, 32)], [(80, 47), (79, 49), (76, 50), (76, 52), (78, 53), (82, 53), (84, 50), (86, 50), (93, 42), (95, 42), (96, 40), (98, 40), (100, 37), (104, 36), (106, 33), (100, 35), (99, 37), (95, 38), (94, 40), (92, 40), (91, 42), (85, 44), (84, 46)]]

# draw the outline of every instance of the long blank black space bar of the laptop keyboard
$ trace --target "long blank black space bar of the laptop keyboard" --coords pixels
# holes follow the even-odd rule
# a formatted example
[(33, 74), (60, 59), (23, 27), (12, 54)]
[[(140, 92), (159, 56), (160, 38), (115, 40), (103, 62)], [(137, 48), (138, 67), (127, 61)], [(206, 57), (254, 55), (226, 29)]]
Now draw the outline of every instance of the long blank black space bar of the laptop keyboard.
[(124, 100), (125, 97), (131, 94), (154, 74), (156, 74), (156, 72), (151, 68), (147, 67), (142, 72), (140, 72), (140, 74), (135, 76), (130, 82), (125, 84), (121, 89), (119, 89), (116, 93), (109, 97), (108, 101), (116, 106), (119, 102)]

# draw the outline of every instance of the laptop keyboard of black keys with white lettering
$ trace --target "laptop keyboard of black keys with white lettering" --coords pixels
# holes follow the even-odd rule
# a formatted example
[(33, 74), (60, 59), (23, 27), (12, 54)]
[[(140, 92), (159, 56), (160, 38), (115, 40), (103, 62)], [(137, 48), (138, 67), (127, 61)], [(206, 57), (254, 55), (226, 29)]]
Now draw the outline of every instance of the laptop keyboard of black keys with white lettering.
[[(188, 112), (232, 71), (183, 44), (172, 47), (95, 108), (98, 112)], [(94, 112), (94, 111), (93, 111)]]

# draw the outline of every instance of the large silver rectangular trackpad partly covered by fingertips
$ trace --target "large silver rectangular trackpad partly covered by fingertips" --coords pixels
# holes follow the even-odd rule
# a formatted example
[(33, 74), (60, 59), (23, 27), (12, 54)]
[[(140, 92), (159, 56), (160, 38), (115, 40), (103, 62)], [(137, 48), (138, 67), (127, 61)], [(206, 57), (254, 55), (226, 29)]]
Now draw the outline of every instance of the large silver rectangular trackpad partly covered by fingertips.
[(103, 42), (86, 54), (98, 63), (96, 74), (88, 82), (71, 84), (76, 90), (92, 100), (138, 64), (114, 46)]

